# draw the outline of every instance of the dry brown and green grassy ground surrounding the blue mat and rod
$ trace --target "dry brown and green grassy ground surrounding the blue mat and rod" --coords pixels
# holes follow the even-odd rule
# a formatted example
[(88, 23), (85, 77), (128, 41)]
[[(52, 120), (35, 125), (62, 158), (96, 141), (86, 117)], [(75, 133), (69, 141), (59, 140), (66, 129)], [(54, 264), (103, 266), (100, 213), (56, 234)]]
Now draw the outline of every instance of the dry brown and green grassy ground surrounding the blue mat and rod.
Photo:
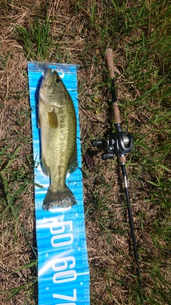
[[(144, 304), (170, 297), (170, 1), (0, 1), (1, 304), (36, 304), (33, 156), (27, 60), (80, 64), (83, 155), (108, 136), (105, 49), (113, 48)], [(140, 304), (116, 160), (83, 163), (91, 304)]]

